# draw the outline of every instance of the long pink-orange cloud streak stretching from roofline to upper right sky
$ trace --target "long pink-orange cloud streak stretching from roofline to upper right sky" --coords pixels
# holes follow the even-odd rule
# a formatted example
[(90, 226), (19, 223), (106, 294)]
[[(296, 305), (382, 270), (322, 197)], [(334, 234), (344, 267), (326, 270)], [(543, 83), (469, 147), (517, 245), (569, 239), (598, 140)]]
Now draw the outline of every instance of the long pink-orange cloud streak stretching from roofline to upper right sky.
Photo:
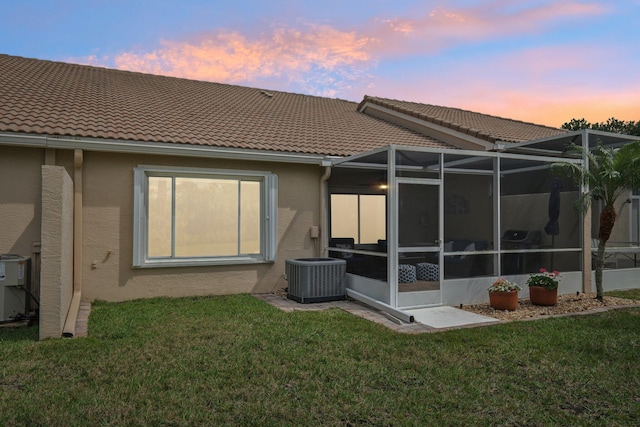
[(535, 31), (561, 17), (603, 12), (596, 5), (559, 3), (509, 11), (511, 2), (502, 0), (474, 8), (421, 10), (411, 18), (377, 20), (351, 31), (306, 24), (277, 27), (251, 39), (237, 31), (212, 32), (184, 41), (163, 40), (147, 52), (75, 61), (227, 83), (265, 80), (284, 86), (298, 81), (316, 94), (333, 84), (329, 90), (339, 93), (390, 57), (432, 53), (469, 40)]

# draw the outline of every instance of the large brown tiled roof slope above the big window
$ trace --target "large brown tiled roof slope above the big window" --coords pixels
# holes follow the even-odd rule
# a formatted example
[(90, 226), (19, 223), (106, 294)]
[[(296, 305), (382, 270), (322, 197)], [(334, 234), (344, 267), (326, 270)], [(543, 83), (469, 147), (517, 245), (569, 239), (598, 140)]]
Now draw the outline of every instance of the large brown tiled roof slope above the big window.
[(450, 147), (340, 99), (8, 55), (0, 132), (338, 156)]

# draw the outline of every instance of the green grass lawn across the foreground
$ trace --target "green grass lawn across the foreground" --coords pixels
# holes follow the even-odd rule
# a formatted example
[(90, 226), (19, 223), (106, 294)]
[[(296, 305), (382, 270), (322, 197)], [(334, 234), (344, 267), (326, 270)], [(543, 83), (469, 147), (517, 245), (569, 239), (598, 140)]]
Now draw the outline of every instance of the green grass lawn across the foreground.
[(0, 330), (0, 425), (637, 425), (640, 309), (405, 335), (248, 295)]

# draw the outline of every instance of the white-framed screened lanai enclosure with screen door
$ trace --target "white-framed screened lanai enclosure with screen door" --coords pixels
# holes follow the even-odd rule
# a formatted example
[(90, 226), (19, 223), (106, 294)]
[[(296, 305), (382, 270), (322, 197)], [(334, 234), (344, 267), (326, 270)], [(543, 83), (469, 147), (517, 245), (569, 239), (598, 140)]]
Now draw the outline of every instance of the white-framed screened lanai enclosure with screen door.
[(563, 293), (581, 291), (591, 220), (575, 207), (583, 189), (550, 165), (582, 159), (557, 148), (566, 140), (555, 151), (545, 142), (510, 152), (388, 146), (335, 161), (327, 246), (346, 260), (348, 294), (392, 310), (456, 306), (487, 301), (497, 277), (523, 285), (540, 268), (562, 273)]

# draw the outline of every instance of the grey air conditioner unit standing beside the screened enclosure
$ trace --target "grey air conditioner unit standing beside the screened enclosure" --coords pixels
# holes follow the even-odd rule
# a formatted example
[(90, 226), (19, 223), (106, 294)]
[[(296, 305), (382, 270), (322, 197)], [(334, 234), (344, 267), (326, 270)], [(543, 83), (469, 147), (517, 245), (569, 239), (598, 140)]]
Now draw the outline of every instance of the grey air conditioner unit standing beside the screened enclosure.
[(347, 262), (334, 258), (285, 260), (288, 297), (306, 304), (346, 298)]

